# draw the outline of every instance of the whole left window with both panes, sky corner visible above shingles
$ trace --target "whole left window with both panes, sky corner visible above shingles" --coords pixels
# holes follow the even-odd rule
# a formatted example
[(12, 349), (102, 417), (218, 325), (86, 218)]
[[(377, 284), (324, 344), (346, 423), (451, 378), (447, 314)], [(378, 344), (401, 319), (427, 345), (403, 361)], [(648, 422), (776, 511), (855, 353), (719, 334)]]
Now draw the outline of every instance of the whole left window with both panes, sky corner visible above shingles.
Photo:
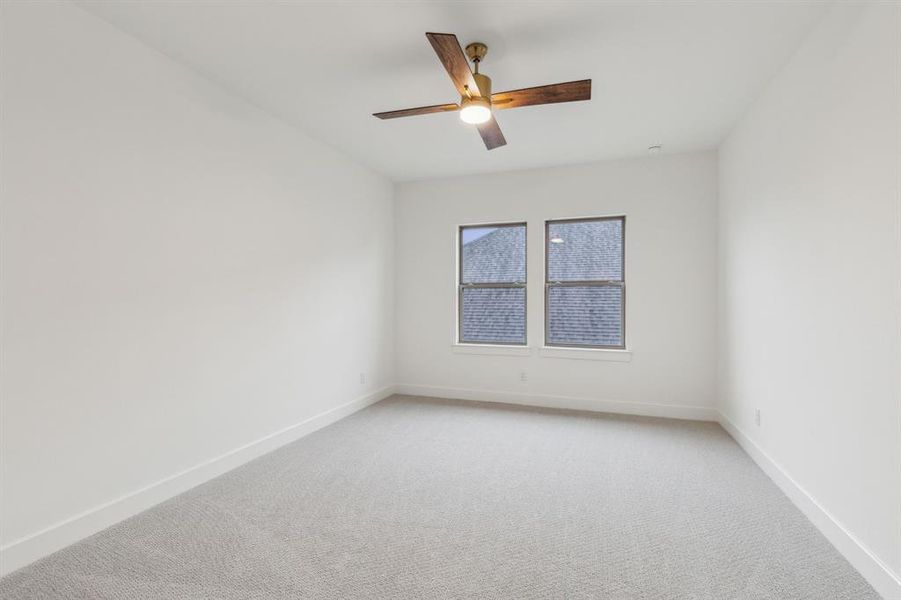
[(460, 227), (461, 344), (526, 343), (526, 224)]

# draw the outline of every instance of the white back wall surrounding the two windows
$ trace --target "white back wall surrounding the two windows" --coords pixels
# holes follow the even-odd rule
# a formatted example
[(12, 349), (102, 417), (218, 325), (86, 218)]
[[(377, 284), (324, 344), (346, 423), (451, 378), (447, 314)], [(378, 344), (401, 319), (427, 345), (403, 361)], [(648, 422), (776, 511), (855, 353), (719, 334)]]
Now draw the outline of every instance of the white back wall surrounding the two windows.
[[(502, 151), (502, 150), (501, 150)], [(490, 160), (490, 156), (486, 157)], [(657, 156), (398, 186), (397, 361), (402, 391), (711, 418), (716, 157)], [(540, 356), (543, 220), (626, 215), (631, 362)], [(529, 356), (458, 354), (455, 231), (528, 221)], [(520, 381), (520, 372), (528, 381)]]

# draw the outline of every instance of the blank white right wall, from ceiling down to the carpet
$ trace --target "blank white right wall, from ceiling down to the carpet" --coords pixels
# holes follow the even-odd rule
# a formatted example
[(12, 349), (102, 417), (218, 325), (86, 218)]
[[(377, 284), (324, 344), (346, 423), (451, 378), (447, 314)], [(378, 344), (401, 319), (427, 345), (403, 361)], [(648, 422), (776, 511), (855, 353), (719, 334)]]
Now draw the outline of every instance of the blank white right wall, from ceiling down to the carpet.
[(829, 13), (723, 144), (719, 211), (720, 409), (831, 515), (827, 530), (875, 556), (843, 548), (891, 598), (901, 597), (885, 572), (901, 573), (899, 21), (897, 3)]

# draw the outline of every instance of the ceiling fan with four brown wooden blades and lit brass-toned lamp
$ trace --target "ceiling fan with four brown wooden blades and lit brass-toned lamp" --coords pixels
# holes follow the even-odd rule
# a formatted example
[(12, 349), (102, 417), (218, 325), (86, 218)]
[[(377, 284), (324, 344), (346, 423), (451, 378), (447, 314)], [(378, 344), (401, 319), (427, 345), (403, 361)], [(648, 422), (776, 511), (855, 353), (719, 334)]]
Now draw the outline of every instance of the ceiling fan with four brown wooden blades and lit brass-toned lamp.
[[(438, 60), (444, 65), (451, 81), (454, 82), (454, 87), (460, 93), (460, 104), (435, 104), (433, 106), (405, 108), (403, 110), (373, 113), (374, 117), (379, 119), (397, 119), (399, 117), (459, 110), (460, 119), (465, 123), (474, 124), (485, 142), (485, 147), (492, 150), (507, 143), (500, 126), (494, 118), (493, 109), (500, 110), (519, 108), (520, 106), (534, 106), (536, 104), (591, 100), (590, 79), (492, 94), (491, 78), (479, 73), (479, 63), (485, 58), (488, 46), (481, 42), (474, 42), (466, 46), (466, 54), (464, 55), (460, 42), (457, 41), (457, 36), (452, 33), (427, 33), (425, 36), (429, 38), (432, 48), (435, 49), (435, 53), (438, 55)], [(466, 60), (467, 56), (475, 65), (475, 72), (470, 70), (469, 62)]]

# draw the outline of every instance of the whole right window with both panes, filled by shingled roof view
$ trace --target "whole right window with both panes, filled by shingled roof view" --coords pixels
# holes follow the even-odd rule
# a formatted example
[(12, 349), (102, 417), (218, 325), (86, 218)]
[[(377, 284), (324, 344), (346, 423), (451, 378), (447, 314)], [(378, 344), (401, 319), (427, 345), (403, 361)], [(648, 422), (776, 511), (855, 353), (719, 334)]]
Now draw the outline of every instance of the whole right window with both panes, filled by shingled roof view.
[(625, 217), (545, 223), (545, 345), (625, 347)]

